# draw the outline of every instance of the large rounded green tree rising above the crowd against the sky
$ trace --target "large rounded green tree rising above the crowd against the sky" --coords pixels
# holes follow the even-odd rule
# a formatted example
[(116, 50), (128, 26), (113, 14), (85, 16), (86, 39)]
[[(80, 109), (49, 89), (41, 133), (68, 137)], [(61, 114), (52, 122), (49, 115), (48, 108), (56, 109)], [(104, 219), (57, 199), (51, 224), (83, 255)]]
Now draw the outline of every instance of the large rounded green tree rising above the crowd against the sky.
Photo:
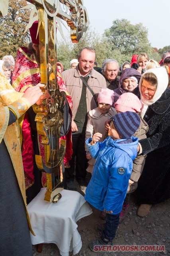
[(129, 20), (117, 19), (104, 34), (111, 43), (111, 50), (119, 50), (128, 59), (141, 52), (151, 53), (148, 30), (142, 23), (133, 25)]

